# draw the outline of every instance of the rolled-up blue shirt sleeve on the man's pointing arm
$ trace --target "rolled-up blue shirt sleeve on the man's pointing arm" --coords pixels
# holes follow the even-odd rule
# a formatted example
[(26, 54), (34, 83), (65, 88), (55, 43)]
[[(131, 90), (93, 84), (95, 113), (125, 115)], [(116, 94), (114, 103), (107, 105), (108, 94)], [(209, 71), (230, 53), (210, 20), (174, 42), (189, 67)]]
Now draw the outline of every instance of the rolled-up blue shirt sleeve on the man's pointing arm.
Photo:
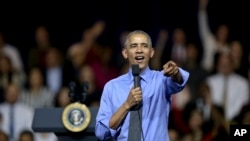
[(189, 78), (189, 72), (179, 68), (179, 72), (181, 73), (182, 83), (179, 84), (171, 79), (171, 77), (166, 78), (166, 86), (167, 86), (167, 94), (174, 94), (182, 91), (187, 84)]

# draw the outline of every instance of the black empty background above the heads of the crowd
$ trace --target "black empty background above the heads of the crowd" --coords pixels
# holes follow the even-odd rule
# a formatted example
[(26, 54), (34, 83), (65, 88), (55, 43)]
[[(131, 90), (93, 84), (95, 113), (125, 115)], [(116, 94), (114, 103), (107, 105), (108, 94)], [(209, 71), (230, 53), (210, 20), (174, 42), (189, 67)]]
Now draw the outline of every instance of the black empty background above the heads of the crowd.
[[(15, 45), (25, 58), (34, 46), (34, 31), (45, 25), (54, 46), (66, 50), (81, 38), (82, 31), (97, 19), (107, 22), (105, 43), (117, 47), (123, 30), (142, 29), (152, 35), (153, 41), (160, 28), (171, 31), (181, 27), (189, 42), (200, 46), (197, 27), (198, 0), (148, 1), (58, 1), (58, 2), (1, 2), (0, 30), (7, 42)], [(230, 39), (242, 42), (249, 52), (250, 8), (247, 1), (210, 0), (208, 16), (212, 32), (221, 23), (230, 28)]]

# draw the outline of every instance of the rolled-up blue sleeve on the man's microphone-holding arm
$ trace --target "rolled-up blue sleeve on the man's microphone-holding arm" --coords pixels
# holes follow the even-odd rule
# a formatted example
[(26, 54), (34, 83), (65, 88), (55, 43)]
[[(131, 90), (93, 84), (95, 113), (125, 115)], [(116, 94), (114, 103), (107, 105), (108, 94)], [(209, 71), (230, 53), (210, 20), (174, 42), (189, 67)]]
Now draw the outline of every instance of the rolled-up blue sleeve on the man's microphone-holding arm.
[(95, 134), (99, 140), (106, 140), (108, 138), (115, 138), (120, 131), (120, 127), (117, 130), (109, 127), (110, 118), (113, 115), (112, 102), (109, 95), (112, 92), (111, 84), (107, 83), (104, 86), (100, 108), (96, 116)]

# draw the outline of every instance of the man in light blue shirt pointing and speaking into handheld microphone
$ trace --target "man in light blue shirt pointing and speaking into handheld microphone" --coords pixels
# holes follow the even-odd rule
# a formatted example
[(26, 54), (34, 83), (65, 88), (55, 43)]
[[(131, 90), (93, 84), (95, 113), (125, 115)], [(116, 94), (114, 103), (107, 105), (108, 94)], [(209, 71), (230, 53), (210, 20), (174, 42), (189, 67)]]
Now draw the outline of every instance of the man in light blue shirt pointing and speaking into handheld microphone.
[(154, 56), (151, 37), (144, 31), (128, 34), (122, 55), (128, 73), (106, 83), (96, 117), (99, 140), (169, 141), (171, 95), (185, 87), (189, 73), (169, 61), (162, 71), (149, 68)]

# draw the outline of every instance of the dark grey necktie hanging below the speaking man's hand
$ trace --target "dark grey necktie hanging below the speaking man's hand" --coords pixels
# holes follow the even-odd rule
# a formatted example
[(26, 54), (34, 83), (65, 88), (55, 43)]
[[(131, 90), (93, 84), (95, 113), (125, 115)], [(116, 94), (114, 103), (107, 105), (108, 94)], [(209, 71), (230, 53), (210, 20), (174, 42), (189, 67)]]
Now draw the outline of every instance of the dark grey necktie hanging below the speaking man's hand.
[(128, 141), (141, 141), (142, 104), (136, 105), (130, 110), (130, 122)]

